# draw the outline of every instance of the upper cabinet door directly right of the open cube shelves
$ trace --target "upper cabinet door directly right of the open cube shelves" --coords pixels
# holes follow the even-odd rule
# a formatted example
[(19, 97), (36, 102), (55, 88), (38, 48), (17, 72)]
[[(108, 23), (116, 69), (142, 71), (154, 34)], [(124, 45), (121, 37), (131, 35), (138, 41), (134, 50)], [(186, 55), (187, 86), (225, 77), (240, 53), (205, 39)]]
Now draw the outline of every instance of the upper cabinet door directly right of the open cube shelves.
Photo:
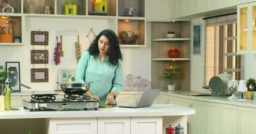
[(170, 0), (148, 0), (147, 17), (149, 20), (170, 19)]

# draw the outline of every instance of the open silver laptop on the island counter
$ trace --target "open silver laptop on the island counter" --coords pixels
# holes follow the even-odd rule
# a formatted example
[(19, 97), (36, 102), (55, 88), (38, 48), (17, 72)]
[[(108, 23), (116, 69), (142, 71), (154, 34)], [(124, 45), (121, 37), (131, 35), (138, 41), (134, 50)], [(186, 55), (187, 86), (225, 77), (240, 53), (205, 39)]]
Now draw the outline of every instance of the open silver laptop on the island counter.
[(145, 90), (141, 97), (139, 98), (139, 102), (136, 105), (120, 105), (118, 107), (125, 108), (139, 108), (139, 107), (150, 107), (154, 100), (156, 100), (156, 96), (158, 96), (160, 90), (159, 89), (150, 89)]

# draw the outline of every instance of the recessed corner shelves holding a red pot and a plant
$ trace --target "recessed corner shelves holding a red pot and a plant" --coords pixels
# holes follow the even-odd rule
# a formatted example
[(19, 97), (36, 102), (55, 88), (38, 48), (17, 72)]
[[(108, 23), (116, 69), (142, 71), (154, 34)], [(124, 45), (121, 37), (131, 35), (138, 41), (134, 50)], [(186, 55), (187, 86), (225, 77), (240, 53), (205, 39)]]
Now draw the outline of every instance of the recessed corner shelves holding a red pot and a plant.
[[(174, 80), (175, 90), (190, 90), (190, 26), (190, 21), (152, 22), (152, 88), (168, 90), (167, 85), (170, 83), (169, 80), (162, 79), (162, 71), (169, 66), (179, 66), (183, 70), (183, 78)], [(174, 31), (177, 38), (164, 38), (167, 31)], [(180, 38), (181, 34), (184, 38)], [(168, 50), (171, 48), (179, 50), (179, 58), (168, 58)]]

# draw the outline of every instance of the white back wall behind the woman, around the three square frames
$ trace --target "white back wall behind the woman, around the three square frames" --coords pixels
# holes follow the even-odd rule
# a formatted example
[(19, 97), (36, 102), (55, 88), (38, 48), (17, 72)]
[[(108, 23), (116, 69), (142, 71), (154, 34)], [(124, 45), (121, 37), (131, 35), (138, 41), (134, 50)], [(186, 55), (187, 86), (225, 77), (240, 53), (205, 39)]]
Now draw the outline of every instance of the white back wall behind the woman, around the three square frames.
[[(90, 28), (93, 28), (95, 34), (102, 29), (115, 29), (114, 19), (81, 19), (81, 18), (53, 18), (53, 17), (26, 17), (26, 32), (24, 46), (0, 46), (0, 65), (5, 66), (5, 62), (20, 62), (21, 82), (31, 86), (35, 90), (55, 90), (57, 88), (57, 72), (59, 68), (76, 68), (75, 42), (77, 36), (63, 37), (64, 57), (61, 63), (55, 65), (53, 61), (54, 48), (56, 47), (56, 30), (78, 29), (82, 51), (86, 50), (90, 42), (86, 38)], [(49, 31), (49, 82), (31, 82), (30, 70), (33, 64), (30, 64), (30, 31), (33, 30)], [(44, 46), (34, 46), (34, 49), (44, 50)], [(150, 46), (147, 48), (121, 48), (123, 52), (123, 77), (127, 74), (134, 74), (150, 80)], [(44, 64), (35, 64), (34, 68), (44, 68)], [(22, 88), (22, 90), (27, 90)]]

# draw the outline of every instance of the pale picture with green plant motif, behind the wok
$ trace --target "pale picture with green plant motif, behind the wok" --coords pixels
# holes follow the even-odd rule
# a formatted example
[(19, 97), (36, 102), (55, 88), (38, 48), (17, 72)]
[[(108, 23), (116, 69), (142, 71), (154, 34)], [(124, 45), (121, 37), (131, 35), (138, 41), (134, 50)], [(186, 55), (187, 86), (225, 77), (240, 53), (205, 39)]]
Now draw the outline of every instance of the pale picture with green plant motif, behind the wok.
[(65, 84), (75, 83), (75, 68), (61, 68), (58, 70), (59, 82)]

